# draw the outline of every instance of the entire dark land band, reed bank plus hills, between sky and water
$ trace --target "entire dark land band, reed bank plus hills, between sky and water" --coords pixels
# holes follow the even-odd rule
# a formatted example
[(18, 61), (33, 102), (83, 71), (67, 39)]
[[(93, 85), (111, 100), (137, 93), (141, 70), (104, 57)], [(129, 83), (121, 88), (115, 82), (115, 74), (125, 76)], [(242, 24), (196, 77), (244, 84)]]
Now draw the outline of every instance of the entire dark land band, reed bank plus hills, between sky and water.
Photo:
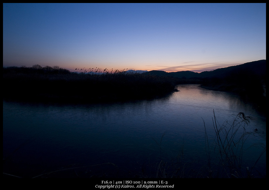
[(82, 104), (153, 99), (172, 93), (177, 84), (201, 84), (236, 93), (265, 110), (266, 60), (201, 73), (7, 67), (3, 68), (3, 81), (5, 100)]

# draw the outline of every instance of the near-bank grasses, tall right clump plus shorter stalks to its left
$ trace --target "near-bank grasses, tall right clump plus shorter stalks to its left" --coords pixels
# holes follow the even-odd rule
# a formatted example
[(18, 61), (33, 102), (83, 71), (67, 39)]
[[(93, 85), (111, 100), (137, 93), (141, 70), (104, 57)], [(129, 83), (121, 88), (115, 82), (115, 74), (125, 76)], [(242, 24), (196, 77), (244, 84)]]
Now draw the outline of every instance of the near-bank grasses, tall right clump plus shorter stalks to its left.
[[(247, 140), (251, 135), (256, 135), (257, 130), (248, 132), (246, 125), (249, 125), (252, 117), (246, 116), (243, 112), (239, 112), (233, 121), (229, 123), (225, 121), (220, 125), (213, 110), (213, 131), (215, 135), (209, 135), (207, 129), (209, 126), (204, 122), (204, 139), (205, 154), (207, 163), (202, 164), (201, 168), (193, 168), (192, 164), (196, 164), (184, 159), (184, 147), (179, 151), (179, 156), (172, 161), (163, 159), (162, 157), (162, 140), (165, 133), (161, 136), (161, 140), (155, 142), (160, 148), (160, 162), (156, 163), (156, 178), (264, 178), (266, 174), (260, 173), (256, 169), (256, 164), (261, 157), (266, 154), (266, 145), (262, 147), (256, 160), (246, 165), (247, 159), (243, 153), (247, 151), (249, 144)], [(204, 120), (203, 120), (204, 121)], [(183, 145), (184, 146), (184, 145)], [(199, 166), (199, 163), (197, 163)]]

